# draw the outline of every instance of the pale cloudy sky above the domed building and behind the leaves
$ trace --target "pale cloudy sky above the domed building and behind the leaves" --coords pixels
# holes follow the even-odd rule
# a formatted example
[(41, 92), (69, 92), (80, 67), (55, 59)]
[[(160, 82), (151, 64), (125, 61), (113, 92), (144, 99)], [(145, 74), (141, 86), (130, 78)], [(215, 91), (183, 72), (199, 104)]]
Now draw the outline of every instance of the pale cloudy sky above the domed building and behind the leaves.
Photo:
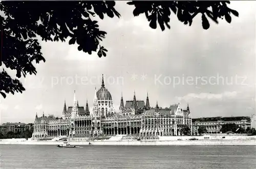
[[(33, 123), (42, 116), (62, 115), (63, 104), (92, 106), (95, 87), (112, 94), (116, 109), (123, 99), (145, 100), (152, 107), (189, 104), (192, 118), (251, 116), (255, 114), (255, 2), (232, 1), (239, 12), (231, 24), (210, 21), (203, 30), (201, 16), (191, 26), (170, 16), (170, 30), (153, 30), (144, 15), (134, 17), (133, 7), (116, 2), (121, 18), (99, 21), (107, 32), (101, 43), (108, 53), (98, 58), (67, 42), (41, 42), (46, 62), (35, 65), (37, 75), (20, 79), (26, 91), (0, 98), (0, 124)], [(13, 71), (8, 70), (11, 75)]]

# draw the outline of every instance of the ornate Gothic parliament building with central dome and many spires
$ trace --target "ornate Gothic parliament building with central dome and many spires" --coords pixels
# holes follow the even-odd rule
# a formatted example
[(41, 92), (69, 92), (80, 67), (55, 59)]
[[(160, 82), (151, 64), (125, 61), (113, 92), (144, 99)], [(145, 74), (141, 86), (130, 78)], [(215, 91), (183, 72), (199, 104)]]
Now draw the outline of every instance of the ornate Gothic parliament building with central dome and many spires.
[[(168, 108), (150, 106), (148, 95), (146, 103), (137, 100), (134, 92), (132, 100), (120, 99), (119, 110), (115, 110), (111, 93), (105, 88), (102, 75), (101, 88), (96, 90), (93, 106), (89, 110), (80, 106), (74, 92), (73, 106), (64, 103), (62, 117), (48, 117), (44, 114), (34, 121), (33, 139), (67, 137), (104, 137), (117, 134), (133, 136), (173, 136), (181, 135), (181, 129), (191, 129), (192, 120), (189, 107), (182, 109), (180, 104)], [(190, 130), (191, 131), (191, 130)]]

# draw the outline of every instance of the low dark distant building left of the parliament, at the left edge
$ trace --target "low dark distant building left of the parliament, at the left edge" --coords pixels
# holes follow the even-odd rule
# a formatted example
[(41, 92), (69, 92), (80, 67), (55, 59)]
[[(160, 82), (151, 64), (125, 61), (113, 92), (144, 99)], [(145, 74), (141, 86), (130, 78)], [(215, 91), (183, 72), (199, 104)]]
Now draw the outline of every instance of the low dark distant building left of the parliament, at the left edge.
[(8, 132), (25, 132), (26, 130), (31, 130), (32, 124), (25, 123), (4, 123), (0, 126), (0, 132), (3, 134), (7, 134)]

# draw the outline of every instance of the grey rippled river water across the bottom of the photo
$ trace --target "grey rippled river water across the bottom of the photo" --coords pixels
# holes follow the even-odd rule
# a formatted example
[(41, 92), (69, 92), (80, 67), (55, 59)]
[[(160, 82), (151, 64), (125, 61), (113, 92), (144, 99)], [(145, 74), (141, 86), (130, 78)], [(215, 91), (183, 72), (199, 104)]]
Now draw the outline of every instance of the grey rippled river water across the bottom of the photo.
[(256, 146), (0, 145), (0, 168), (256, 168)]

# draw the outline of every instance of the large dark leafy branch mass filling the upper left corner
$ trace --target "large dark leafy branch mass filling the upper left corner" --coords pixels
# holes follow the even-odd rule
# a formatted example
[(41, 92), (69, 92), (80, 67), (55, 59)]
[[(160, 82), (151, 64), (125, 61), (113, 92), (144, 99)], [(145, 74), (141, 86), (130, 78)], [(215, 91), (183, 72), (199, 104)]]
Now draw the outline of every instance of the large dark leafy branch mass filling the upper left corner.
[[(109, 17), (120, 17), (114, 8), (115, 2), (12, 2), (2, 1), (0, 10), (5, 17), (1, 22), (1, 57), (2, 63), (11, 70), (16, 70), (16, 77), (27, 73), (36, 74), (33, 63), (45, 62), (37, 37), (43, 41), (62, 41), (68, 37), (69, 44), (78, 44), (78, 50), (105, 57), (106, 50), (99, 46), (106, 32), (99, 29), (93, 17), (100, 19), (104, 14)], [(1, 66), (0, 65), (0, 66)], [(18, 79), (12, 79), (5, 70), (0, 74), (0, 91), (5, 98), (6, 93), (14, 91), (22, 93), (25, 88)]]

